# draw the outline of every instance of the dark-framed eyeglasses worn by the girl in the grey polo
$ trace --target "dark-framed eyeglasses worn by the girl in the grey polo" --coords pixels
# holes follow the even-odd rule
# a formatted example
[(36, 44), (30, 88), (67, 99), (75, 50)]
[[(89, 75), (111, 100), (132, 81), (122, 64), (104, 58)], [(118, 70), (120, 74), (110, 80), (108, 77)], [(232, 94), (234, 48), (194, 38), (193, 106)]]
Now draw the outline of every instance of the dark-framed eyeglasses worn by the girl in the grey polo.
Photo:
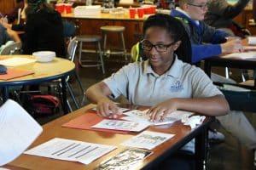
[(173, 44), (175, 44), (175, 42), (169, 43), (169, 44), (152, 44), (151, 42), (149, 42), (148, 40), (143, 40), (142, 42), (142, 48), (145, 51), (150, 51), (152, 48), (155, 48), (156, 51), (158, 52), (166, 52), (167, 49), (172, 46)]

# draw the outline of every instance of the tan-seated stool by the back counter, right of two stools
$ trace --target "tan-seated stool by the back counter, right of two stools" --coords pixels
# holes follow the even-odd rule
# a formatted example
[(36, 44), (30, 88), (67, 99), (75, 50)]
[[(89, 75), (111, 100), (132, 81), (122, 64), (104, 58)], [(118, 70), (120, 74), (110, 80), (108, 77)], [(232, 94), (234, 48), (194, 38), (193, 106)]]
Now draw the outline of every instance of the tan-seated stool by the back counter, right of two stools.
[[(103, 38), (104, 38), (104, 46), (103, 46), (103, 52), (105, 55), (110, 55), (110, 54), (122, 54), (125, 55), (126, 58), (126, 48), (125, 48), (125, 38), (123, 32), (125, 31), (125, 26), (102, 26), (101, 27)], [(122, 50), (121, 51), (109, 51), (107, 50), (107, 37), (108, 37), (108, 32), (118, 32), (121, 41), (122, 41)]]

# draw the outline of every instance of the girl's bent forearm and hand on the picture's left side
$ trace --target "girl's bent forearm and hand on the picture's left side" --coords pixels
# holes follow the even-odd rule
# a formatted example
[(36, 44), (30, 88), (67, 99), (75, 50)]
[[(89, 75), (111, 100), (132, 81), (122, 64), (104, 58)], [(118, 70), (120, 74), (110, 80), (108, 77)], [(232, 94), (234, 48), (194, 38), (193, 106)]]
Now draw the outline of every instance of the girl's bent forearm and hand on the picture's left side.
[(121, 114), (118, 106), (108, 98), (111, 94), (112, 92), (105, 82), (98, 82), (85, 92), (87, 99), (97, 105), (97, 114), (101, 116), (115, 116), (116, 114)]

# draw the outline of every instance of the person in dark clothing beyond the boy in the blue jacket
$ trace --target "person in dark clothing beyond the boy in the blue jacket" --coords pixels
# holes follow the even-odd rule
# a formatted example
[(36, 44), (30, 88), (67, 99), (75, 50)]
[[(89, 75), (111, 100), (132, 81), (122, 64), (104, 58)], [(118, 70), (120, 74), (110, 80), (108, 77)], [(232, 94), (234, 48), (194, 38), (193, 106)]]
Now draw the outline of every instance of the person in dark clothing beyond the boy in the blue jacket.
[(244, 37), (246, 32), (233, 19), (241, 13), (250, 0), (239, 0), (234, 5), (226, 0), (209, 0), (204, 22), (209, 26), (226, 31), (230, 36)]

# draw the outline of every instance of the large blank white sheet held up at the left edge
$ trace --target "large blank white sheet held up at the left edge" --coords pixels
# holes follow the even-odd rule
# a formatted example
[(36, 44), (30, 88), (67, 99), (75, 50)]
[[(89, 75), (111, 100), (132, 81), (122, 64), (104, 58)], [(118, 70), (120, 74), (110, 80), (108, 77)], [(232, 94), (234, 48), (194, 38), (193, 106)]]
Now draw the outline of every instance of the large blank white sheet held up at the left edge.
[(20, 156), (42, 131), (20, 105), (7, 100), (0, 108), (0, 166)]

